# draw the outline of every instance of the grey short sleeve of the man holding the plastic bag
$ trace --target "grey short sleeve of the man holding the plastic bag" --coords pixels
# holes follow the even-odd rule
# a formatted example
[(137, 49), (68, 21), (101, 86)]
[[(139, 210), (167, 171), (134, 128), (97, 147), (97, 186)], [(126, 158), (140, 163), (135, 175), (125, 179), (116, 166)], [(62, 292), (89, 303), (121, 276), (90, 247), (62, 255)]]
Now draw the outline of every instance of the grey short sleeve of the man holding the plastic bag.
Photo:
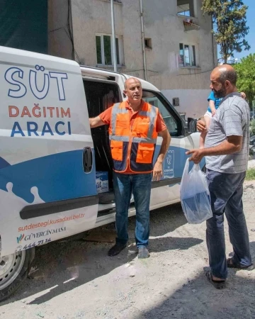
[(227, 136), (243, 136), (242, 111), (239, 107), (232, 104), (232, 106), (222, 114), (221, 122)]

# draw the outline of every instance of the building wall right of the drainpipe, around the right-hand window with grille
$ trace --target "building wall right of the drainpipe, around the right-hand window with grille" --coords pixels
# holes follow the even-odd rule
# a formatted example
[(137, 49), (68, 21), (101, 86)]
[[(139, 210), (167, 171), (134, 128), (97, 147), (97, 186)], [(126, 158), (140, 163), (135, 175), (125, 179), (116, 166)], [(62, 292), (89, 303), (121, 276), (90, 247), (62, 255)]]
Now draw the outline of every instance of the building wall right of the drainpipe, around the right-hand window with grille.
[[(203, 16), (199, 4), (193, 22), (200, 30), (184, 32), (183, 19), (177, 16), (176, 1), (154, 0), (145, 3), (145, 37), (152, 38), (152, 50), (147, 50), (148, 68), (161, 74), (161, 89), (208, 89), (210, 71), (214, 67), (211, 19)], [(179, 68), (179, 43), (196, 45), (198, 67)], [(149, 74), (153, 81), (153, 74)], [(157, 75), (156, 75), (157, 77)]]

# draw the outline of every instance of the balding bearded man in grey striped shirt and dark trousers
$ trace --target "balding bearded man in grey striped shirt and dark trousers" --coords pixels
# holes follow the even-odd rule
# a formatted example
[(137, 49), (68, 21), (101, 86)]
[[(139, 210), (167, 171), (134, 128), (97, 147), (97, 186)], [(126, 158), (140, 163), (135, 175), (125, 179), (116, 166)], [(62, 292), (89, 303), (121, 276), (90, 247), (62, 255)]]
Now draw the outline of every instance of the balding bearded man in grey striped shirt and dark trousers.
[[(208, 280), (217, 288), (225, 287), (227, 267), (251, 270), (249, 235), (242, 206), (243, 183), (249, 157), (249, 106), (237, 92), (237, 73), (230, 65), (216, 67), (210, 76), (210, 89), (223, 98), (212, 117), (205, 148), (191, 150), (191, 161), (205, 156), (213, 216), (207, 220), (206, 240), (210, 272)], [(206, 131), (198, 121), (198, 130)], [(229, 225), (233, 257), (226, 259), (224, 213)]]

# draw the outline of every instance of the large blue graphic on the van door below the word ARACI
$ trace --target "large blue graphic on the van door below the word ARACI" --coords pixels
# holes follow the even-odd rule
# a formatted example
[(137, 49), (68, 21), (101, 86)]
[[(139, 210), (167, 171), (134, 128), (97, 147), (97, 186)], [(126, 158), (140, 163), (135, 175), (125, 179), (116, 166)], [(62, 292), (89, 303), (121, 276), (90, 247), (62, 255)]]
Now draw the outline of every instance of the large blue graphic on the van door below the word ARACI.
[[(42, 201), (61, 201), (96, 194), (95, 167), (85, 174), (82, 166), (83, 150), (62, 152), (0, 169), (0, 189), (13, 184), (13, 193), (28, 203), (34, 196), (30, 189), (38, 188)], [(7, 212), (6, 212), (7, 213)]]

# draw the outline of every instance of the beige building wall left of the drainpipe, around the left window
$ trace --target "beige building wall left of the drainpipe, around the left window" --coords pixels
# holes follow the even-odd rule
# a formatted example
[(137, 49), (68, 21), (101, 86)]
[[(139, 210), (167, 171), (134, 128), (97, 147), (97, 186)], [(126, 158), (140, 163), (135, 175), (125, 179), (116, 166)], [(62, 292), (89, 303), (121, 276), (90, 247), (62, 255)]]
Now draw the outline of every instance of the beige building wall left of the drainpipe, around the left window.
[[(124, 65), (118, 71), (143, 77), (140, 1), (114, 3), (114, 11), (115, 34), (123, 36)], [(96, 33), (111, 35), (110, 1), (73, 0), (72, 16), (75, 49), (84, 65), (96, 67)]]

